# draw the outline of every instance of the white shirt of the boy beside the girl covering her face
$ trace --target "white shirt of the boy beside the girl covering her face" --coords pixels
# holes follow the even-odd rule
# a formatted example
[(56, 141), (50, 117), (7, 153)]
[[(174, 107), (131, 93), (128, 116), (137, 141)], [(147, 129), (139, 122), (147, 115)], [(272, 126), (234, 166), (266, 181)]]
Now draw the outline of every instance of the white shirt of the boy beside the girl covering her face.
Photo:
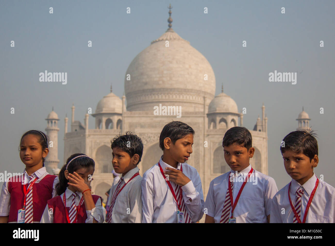
[[(134, 169), (131, 169), (129, 172), (127, 172), (127, 174), (123, 177), (120, 189), (139, 170), (140, 169), (138, 169), (138, 167), (135, 167)], [(114, 203), (111, 215), (112, 216), (111, 223), (141, 223), (142, 221), (141, 180), (142, 177), (140, 175), (137, 175), (132, 180), (130, 180), (129, 183), (127, 183), (127, 185), (121, 190)], [(118, 184), (119, 183), (113, 186), (111, 197), (113, 197), (114, 193), (116, 192)], [(109, 204), (109, 206), (111, 206), (111, 204)]]

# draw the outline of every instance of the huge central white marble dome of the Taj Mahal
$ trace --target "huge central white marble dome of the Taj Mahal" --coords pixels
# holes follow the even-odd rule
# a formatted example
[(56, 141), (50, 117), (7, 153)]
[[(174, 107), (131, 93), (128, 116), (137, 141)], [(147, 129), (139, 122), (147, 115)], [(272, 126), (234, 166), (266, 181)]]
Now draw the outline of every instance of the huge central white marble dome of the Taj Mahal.
[(203, 111), (203, 97), (206, 106), (214, 98), (215, 75), (207, 59), (169, 28), (130, 63), (125, 95), (128, 111), (153, 110), (160, 103)]

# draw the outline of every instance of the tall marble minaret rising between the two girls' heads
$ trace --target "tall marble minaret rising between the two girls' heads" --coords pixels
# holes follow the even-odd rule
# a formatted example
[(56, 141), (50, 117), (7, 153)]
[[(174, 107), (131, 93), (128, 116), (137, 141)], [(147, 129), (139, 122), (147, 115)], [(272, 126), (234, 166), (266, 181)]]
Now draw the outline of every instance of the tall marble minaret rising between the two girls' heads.
[(47, 121), (47, 136), (49, 137), (49, 154), (46, 157), (44, 164), (47, 168), (47, 172), (53, 174), (53, 169), (58, 168), (58, 115), (52, 107), (52, 111), (48, 114), (48, 117), (45, 119)]

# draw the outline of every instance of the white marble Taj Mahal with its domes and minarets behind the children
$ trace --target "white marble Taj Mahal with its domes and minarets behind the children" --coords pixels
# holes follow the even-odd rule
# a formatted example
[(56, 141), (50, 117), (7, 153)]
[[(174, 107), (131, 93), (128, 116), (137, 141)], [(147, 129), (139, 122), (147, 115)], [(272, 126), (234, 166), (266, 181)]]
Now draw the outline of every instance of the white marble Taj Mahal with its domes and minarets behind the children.
[[(143, 141), (142, 160), (138, 167), (140, 175), (156, 164), (162, 155), (159, 135), (168, 122), (178, 120), (191, 126), (194, 131), (193, 153), (187, 161), (195, 167), (201, 177), (204, 198), (209, 183), (215, 177), (230, 170), (225, 163), (222, 138), (225, 132), (235, 126), (243, 126), (243, 111), (223, 91), (215, 95), (216, 80), (207, 59), (190, 42), (172, 29), (171, 9), (169, 28), (141, 51), (130, 63), (124, 79), (125, 93), (120, 98), (112, 92), (96, 105), (95, 112), (84, 115), (84, 122), (75, 120), (75, 106), (72, 105), (70, 129), (65, 117), (64, 160), (74, 153), (84, 153), (95, 161), (92, 193), (102, 196), (113, 183), (111, 140), (126, 131), (136, 133)], [(218, 84), (223, 84), (221, 81)], [(161, 105), (181, 108), (176, 115), (157, 115), (154, 108)], [(250, 129), (255, 148), (250, 159), (252, 167), (268, 174), (268, 137), (264, 104), (261, 118), (256, 119)], [(89, 117), (95, 118), (95, 125), (89, 128)], [(45, 165), (51, 174), (58, 174), (58, 115), (51, 111), (46, 118), (46, 132), (53, 148)], [(298, 118), (299, 130), (308, 128), (309, 116), (303, 110)]]

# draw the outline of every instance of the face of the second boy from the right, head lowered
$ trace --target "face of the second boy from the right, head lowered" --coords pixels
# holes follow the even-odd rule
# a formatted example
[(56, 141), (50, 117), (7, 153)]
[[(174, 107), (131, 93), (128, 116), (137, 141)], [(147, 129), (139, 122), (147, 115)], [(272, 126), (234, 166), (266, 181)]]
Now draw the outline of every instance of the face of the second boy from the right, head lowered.
[(224, 159), (233, 171), (242, 171), (249, 166), (249, 158), (254, 156), (255, 148), (251, 147), (249, 151), (236, 143), (223, 147)]

